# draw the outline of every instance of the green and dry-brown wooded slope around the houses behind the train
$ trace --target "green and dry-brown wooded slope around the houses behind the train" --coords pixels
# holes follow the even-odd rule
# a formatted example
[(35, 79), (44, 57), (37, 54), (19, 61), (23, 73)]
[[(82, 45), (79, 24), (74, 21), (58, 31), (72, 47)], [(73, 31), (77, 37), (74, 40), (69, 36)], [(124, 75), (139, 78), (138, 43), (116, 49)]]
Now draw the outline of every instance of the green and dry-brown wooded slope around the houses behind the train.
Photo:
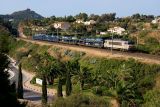
[[(109, 28), (122, 27), (125, 32), (122, 35), (114, 34), (113, 38), (130, 40), (136, 45), (136, 50), (139, 52), (149, 54), (160, 54), (160, 24), (153, 24), (151, 21), (155, 19), (153, 15), (133, 14), (132, 16), (118, 18), (116, 13), (95, 15), (88, 15), (86, 13), (79, 13), (75, 16), (44, 18), (40, 20), (29, 20), (22, 24), (23, 32), (26, 36), (31, 36), (36, 33), (47, 33), (57, 35), (57, 29), (54, 28), (55, 22), (69, 22), (71, 27), (68, 30), (58, 29), (58, 35), (77, 36), (96, 38), (107, 37), (111, 38), (111, 33), (107, 32)], [(84, 25), (83, 23), (76, 23), (76, 20), (89, 21), (94, 20), (96, 23), (91, 25)], [(39, 30), (35, 30), (39, 29)], [(100, 32), (106, 32), (101, 35)]]

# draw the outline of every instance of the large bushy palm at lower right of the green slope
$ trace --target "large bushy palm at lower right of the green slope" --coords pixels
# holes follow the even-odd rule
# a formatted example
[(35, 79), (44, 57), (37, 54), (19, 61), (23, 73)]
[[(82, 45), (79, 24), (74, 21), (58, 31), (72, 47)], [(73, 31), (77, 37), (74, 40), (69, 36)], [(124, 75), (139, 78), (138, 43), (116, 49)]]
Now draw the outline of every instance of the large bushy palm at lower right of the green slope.
[[(135, 107), (135, 98), (136, 97), (136, 85), (134, 82), (130, 83), (132, 79), (130, 76), (130, 70), (125, 65), (122, 65), (120, 69), (106, 71), (104, 80), (107, 81), (108, 93), (109, 95), (117, 100), (117, 103), (124, 104), (127, 106), (132, 105)], [(103, 76), (102, 76), (103, 78)]]

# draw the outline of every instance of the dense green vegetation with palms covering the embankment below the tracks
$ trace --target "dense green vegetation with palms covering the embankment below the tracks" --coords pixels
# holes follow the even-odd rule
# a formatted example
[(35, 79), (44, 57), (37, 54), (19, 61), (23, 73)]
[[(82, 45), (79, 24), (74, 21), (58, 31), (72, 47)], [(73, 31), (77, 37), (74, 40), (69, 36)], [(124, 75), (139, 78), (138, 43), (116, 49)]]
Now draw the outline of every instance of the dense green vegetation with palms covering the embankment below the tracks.
[[(43, 76), (40, 74), (46, 72), (49, 87), (58, 87), (59, 97), (62, 97), (62, 91), (66, 90), (68, 96), (77, 93), (82, 93), (83, 96), (88, 93), (101, 96), (107, 102), (114, 99), (121, 106), (145, 106), (153, 102), (156, 106), (159, 102), (159, 96), (155, 96), (159, 92), (155, 89), (156, 78), (159, 78), (159, 65), (143, 64), (133, 59), (88, 57), (85, 53), (52, 46), (39, 46), (21, 40), (14, 42), (12, 46), (10, 55), (15, 58), (17, 55), (14, 53), (19, 56), (32, 50), (29, 57), (23, 58), (23, 67), (37, 72), (39, 78)], [(37, 68), (40, 66), (41, 70), (35, 66)], [(32, 82), (35, 83), (34, 80)], [(156, 101), (152, 95), (157, 98)], [(75, 96), (81, 99), (79, 95)], [(74, 102), (73, 99), (70, 101)], [(64, 101), (64, 104), (68, 105), (68, 100), (60, 98), (55, 104), (59, 105), (58, 102)]]

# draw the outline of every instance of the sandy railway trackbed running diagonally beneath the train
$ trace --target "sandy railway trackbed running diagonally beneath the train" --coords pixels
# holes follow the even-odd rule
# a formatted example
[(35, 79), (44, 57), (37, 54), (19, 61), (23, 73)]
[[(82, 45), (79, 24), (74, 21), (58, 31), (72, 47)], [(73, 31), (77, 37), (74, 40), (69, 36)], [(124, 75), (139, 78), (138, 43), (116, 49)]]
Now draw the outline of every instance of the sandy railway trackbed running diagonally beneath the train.
[(158, 55), (151, 55), (151, 54), (138, 53), (138, 52), (122, 52), (117, 50), (113, 50), (112, 52), (113, 54), (112, 54), (111, 51), (108, 49), (100, 49), (100, 48), (78, 46), (78, 45), (56, 43), (56, 42), (39, 41), (39, 40), (24, 39), (24, 38), (17, 38), (17, 39), (18, 40), (21, 39), (21, 40), (39, 44), (39, 45), (53, 45), (53, 46), (61, 47), (65, 49), (83, 51), (85, 53), (88, 53), (91, 56), (107, 57), (107, 58), (122, 58), (122, 59), (133, 58), (144, 63), (160, 64), (160, 56)]

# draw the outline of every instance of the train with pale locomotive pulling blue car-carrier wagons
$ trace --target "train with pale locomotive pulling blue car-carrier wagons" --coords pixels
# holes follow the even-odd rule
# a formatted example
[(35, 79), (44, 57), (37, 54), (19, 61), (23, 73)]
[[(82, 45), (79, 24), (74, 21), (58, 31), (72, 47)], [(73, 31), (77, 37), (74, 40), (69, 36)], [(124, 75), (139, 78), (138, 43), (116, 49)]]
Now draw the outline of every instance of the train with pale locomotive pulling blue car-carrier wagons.
[(107, 48), (115, 50), (129, 51), (134, 50), (135, 45), (131, 41), (122, 39), (109, 39), (109, 38), (77, 38), (75, 36), (57, 36), (46, 34), (35, 34), (32, 36), (33, 40), (59, 42), (73, 45), (83, 45), (96, 48)]

